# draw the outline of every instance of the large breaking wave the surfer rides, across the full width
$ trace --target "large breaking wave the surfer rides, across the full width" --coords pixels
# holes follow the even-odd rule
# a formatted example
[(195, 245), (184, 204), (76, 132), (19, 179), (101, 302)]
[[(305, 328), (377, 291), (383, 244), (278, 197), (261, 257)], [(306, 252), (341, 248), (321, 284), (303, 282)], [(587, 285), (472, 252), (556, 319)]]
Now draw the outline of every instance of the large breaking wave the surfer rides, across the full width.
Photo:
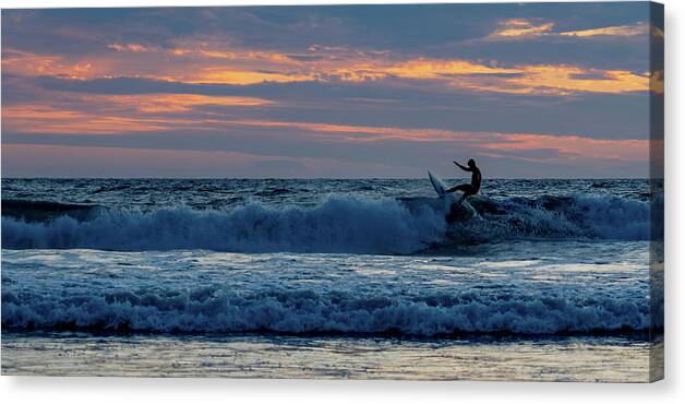
[(473, 198), (471, 204), (478, 216), (449, 224), (448, 209), (437, 199), (332, 195), (309, 207), (251, 202), (230, 210), (77, 210), (87, 215), (69, 214), (76, 210), (73, 205), (64, 213), (58, 204), (59, 214), (44, 212), (38, 219), (34, 211), (39, 204), (33, 202), (27, 205), (31, 217), (16, 206), (7, 215), (3, 210), (2, 247), (411, 253), (436, 245), (520, 238), (648, 240), (662, 231), (650, 228), (652, 215), (663, 215), (662, 197), (652, 202), (579, 195)]

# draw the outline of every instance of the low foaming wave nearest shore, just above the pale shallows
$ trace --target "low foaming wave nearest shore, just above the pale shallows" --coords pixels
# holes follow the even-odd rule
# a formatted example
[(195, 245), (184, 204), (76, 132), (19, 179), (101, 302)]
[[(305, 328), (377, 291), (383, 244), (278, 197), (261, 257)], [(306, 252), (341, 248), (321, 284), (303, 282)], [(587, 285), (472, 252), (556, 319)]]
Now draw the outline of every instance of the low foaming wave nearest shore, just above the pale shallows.
[[(569, 296), (570, 295), (570, 296)], [(661, 305), (661, 312), (662, 306)], [(558, 334), (662, 328), (645, 296), (462, 293), (408, 298), (314, 290), (2, 295), (4, 329), (182, 333)], [(653, 321), (653, 323), (652, 323)]]

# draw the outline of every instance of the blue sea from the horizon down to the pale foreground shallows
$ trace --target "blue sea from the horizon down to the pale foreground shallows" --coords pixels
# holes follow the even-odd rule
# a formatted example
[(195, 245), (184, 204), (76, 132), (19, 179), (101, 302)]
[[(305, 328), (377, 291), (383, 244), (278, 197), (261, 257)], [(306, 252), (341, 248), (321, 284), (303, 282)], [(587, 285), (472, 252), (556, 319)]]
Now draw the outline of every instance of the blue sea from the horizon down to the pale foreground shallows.
[(428, 179), (3, 179), (2, 203), (3, 333), (663, 326), (648, 180), (486, 180), (473, 214)]

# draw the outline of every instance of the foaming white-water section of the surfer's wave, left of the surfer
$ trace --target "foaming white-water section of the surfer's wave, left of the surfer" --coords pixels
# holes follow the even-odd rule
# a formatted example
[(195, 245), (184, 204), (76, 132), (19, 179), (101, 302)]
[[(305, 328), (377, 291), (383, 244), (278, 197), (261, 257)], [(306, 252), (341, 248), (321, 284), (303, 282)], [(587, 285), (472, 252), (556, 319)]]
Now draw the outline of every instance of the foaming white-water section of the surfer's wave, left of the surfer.
[(446, 224), (428, 206), (410, 213), (395, 200), (332, 197), (314, 207), (250, 203), (230, 211), (188, 207), (103, 210), (88, 221), (3, 217), (5, 248), (109, 250), (410, 252), (438, 241)]

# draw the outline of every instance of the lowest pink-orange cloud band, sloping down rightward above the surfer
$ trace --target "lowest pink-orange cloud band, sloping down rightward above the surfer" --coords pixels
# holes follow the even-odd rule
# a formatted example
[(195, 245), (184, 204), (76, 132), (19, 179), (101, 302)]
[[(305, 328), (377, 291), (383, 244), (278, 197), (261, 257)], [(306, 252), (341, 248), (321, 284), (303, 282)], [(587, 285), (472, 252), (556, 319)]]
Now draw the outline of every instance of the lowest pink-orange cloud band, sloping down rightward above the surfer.
[[(230, 144), (255, 142), (263, 143), (260, 139), (269, 142), (285, 142), (290, 146), (283, 147), (298, 150), (296, 144), (305, 142), (305, 148), (323, 147), (381, 147), (378, 150), (389, 150), (389, 145), (402, 145), (402, 147), (416, 148), (423, 144), (426, 147), (461, 150), (462, 152), (476, 153), (483, 156), (506, 156), (509, 158), (520, 158), (528, 162), (556, 162), (570, 163), (576, 161), (617, 161), (617, 162), (646, 162), (649, 153), (648, 140), (597, 140), (578, 135), (562, 134), (539, 134), (539, 133), (503, 133), (503, 132), (472, 132), (458, 130), (441, 130), (428, 128), (398, 128), (398, 127), (365, 127), (354, 124), (332, 124), (319, 122), (287, 122), (269, 120), (244, 120), (224, 118), (221, 116), (191, 118), (185, 115), (168, 116), (164, 119), (148, 117), (127, 118), (121, 115), (105, 115), (101, 112), (85, 115), (73, 111), (37, 110), (28, 111), (33, 124), (27, 122), (25, 127), (10, 126), (8, 132), (52, 134), (56, 141), (64, 134), (97, 135), (101, 142), (107, 143), (109, 139), (120, 139), (120, 135), (132, 133), (143, 136), (145, 132), (160, 133), (164, 135), (159, 143), (161, 148), (173, 143), (172, 136), (167, 132), (179, 132), (185, 130), (188, 133), (214, 133), (224, 138)], [(43, 112), (43, 114), (41, 114)], [(10, 110), (10, 114), (16, 114)], [(4, 117), (3, 117), (4, 118)], [(119, 129), (115, 129), (118, 127)], [(113, 135), (116, 134), (116, 135)], [(297, 135), (293, 135), (297, 134)], [(77, 136), (77, 138), (79, 138)], [(194, 134), (183, 135), (183, 141), (192, 144), (212, 147), (206, 143), (206, 138), (200, 136), (196, 141)], [(5, 138), (7, 139), (7, 138)], [(21, 134), (9, 136), (12, 142), (21, 142)], [(40, 138), (45, 142), (51, 138)], [(87, 139), (87, 138), (82, 138)], [(144, 139), (144, 138), (142, 138)], [(204, 141), (200, 141), (203, 140)], [(13, 141), (12, 141), (13, 140)], [(135, 147), (134, 138), (131, 139), (131, 146)], [(166, 144), (166, 145), (165, 145)], [(274, 143), (277, 144), (277, 143)], [(413, 146), (410, 146), (412, 144)], [(256, 152), (261, 146), (250, 152)], [(293, 148), (295, 147), (295, 148)], [(302, 147), (302, 146), (299, 146)], [(322, 148), (322, 150), (323, 150)], [(373, 150), (370, 148), (370, 150)], [(540, 154), (540, 150), (545, 150)], [(230, 151), (230, 150), (229, 150)], [(244, 151), (244, 150), (242, 150)], [(298, 151), (300, 153), (300, 151)], [(316, 154), (316, 153), (314, 153)], [(378, 157), (378, 156), (376, 156)], [(383, 159), (383, 158), (381, 158)]]

